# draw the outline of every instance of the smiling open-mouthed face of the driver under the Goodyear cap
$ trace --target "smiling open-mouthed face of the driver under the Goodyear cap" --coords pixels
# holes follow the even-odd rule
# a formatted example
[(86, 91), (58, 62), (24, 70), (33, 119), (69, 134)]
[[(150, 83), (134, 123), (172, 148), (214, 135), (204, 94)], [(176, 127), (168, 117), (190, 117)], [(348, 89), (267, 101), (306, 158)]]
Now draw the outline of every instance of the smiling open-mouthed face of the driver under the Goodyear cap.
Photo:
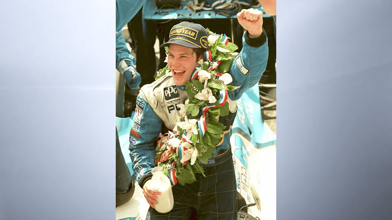
[(167, 56), (167, 65), (169, 66), (174, 83), (184, 85), (192, 75), (193, 70), (198, 65), (194, 49), (171, 43)]

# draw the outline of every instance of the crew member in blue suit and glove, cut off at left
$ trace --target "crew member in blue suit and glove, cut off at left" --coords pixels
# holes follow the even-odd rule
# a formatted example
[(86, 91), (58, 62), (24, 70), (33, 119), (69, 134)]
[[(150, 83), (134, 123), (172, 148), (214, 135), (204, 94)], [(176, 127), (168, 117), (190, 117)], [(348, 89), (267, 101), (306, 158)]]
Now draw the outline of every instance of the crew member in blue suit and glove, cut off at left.
[[(140, 84), (140, 74), (135, 70), (135, 58), (129, 52), (122, 36), (122, 28), (135, 16), (146, 0), (116, 0), (116, 69), (125, 76), (129, 88)], [(134, 183), (122, 155), (116, 128), (116, 207), (131, 199)]]

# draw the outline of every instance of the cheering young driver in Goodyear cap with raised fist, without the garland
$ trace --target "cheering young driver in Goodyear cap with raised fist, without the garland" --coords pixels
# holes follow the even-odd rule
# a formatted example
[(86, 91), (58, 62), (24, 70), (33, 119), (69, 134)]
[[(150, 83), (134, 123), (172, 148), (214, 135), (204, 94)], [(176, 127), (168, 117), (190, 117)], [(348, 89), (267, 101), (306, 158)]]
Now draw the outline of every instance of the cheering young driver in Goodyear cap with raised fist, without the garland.
[[(208, 49), (207, 31), (196, 23), (181, 22), (170, 31), (167, 65), (172, 74), (166, 74), (154, 83), (141, 88), (137, 98), (134, 124), (130, 132), (131, 160), (136, 179), (150, 204), (147, 219), (189, 219), (196, 210), (198, 219), (237, 219), (237, 192), (232, 153), (230, 148), (231, 126), (236, 116), (238, 100), (243, 92), (258, 83), (267, 66), (267, 35), (263, 32), (262, 13), (257, 9), (243, 9), (237, 14), (238, 22), (247, 30), (243, 36), (243, 49), (230, 68), (232, 85), (240, 86), (229, 92), (227, 116), (219, 122), (226, 126), (221, 141), (216, 145), (209, 164), (201, 164), (206, 177), (196, 174), (196, 181), (173, 188), (174, 207), (168, 213), (155, 211), (156, 195), (145, 184), (151, 179), (154, 164), (154, 142), (158, 135), (172, 130), (179, 115), (176, 105), (188, 98), (186, 81)], [(185, 34), (184, 34), (185, 33)], [(165, 132), (163, 132), (165, 133)]]

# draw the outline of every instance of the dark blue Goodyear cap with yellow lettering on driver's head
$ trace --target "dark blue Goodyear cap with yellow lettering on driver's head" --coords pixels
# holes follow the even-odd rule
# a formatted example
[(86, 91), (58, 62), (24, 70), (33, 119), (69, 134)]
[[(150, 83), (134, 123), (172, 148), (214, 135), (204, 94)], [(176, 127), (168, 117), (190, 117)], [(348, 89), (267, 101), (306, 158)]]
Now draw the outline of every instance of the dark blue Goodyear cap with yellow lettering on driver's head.
[(198, 23), (181, 22), (174, 25), (169, 33), (169, 41), (160, 47), (169, 46), (174, 43), (184, 47), (203, 48), (208, 47), (208, 32)]

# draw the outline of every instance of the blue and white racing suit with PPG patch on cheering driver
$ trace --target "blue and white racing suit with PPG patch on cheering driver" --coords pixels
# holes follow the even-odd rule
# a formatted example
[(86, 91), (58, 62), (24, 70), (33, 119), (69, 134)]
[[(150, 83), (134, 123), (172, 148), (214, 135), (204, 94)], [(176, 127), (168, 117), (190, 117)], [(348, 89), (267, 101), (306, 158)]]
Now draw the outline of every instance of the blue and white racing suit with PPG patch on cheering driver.
[[(236, 219), (237, 193), (234, 166), (230, 148), (231, 126), (237, 112), (236, 100), (243, 92), (258, 83), (268, 60), (267, 35), (263, 31), (258, 38), (250, 38), (248, 32), (243, 35), (243, 49), (235, 58), (230, 68), (232, 85), (240, 86), (229, 92), (229, 114), (219, 117), (219, 122), (226, 126), (221, 141), (216, 144), (216, 153), (207, 164), (201, 164), (207, 177), (196, 174), (192, 184), (173, 188), (174, 207), (169, 213), (157, 213), (149, 208), (147, 219), (188, 219), (190, 207), (196, 209), (199, 219)], [(132, 168), (141, 188), (151, 179), (154, 164), (154, 142), (159, 134), (172, 130), (179, 115), (178, 104), (188, 99), (185, 85), (176, 86), (171, 73), (162, 76), (154, 83), (141, 88), (136, 101), (134, 123), (130, 132)], [(187, 192), (187, 193), (185, 193)]]

